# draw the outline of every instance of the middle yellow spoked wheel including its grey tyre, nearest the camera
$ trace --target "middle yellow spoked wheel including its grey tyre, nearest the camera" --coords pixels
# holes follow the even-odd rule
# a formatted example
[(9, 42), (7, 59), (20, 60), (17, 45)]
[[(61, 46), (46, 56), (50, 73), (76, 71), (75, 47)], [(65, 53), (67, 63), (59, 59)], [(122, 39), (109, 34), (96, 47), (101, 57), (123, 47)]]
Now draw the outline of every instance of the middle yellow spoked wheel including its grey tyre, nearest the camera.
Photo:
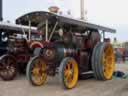
[(64, 58), (59, 67), (59, 78), (64, 88), (75, 87), (78, 81), (78, 64), (70, 57)]

